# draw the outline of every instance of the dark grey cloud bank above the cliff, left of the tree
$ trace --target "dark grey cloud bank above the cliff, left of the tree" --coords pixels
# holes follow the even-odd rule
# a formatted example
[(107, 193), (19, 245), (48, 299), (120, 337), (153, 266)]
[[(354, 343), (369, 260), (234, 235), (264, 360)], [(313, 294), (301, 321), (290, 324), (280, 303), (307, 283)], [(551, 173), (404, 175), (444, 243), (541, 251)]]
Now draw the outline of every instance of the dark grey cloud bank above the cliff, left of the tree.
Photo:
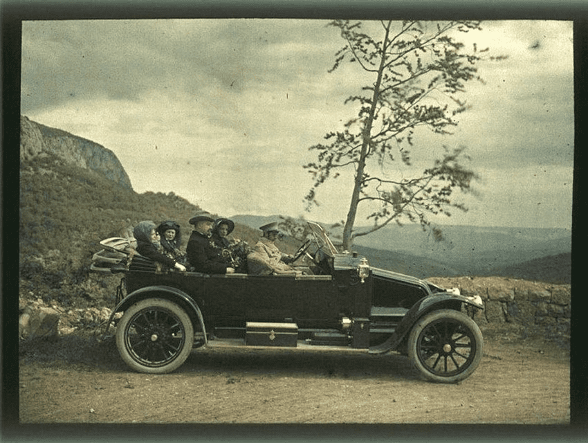
[[(73, 98), (136, 101), (150, 89), (197, 99), (210, 89), (281, 86), (322, 70), (316, 62), (324, 57), (325, 37), (336, 41), (336, 33), (327, 33), (321, 21), (263, 22), (26, 21), (22, 108)], [(322, 45), (313, 40), (319, 35)]]

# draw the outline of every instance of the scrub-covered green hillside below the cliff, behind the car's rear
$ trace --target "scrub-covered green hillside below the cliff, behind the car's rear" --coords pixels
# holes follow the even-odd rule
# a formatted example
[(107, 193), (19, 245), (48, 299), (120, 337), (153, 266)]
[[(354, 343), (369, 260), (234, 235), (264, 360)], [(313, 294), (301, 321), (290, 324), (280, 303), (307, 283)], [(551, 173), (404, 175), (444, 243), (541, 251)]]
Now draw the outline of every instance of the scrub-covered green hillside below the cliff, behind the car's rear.
[[(133, 190), (53, 156), (21, 163), (19, 264), (21, 298), (64, 306), (111, 305), (120, 276), (91, 273), (100, 240), (127, 237), (139, 221), (176, 220), (183, 246), (199, 206), (173, 192)], [(259, 231), (237, 225), (235, 237), (256, 242)]]

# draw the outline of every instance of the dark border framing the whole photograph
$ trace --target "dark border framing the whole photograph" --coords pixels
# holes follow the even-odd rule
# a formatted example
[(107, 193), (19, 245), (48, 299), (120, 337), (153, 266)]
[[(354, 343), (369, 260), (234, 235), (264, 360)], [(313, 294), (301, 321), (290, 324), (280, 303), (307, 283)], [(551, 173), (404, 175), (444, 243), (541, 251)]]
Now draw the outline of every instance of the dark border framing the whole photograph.
[[(19, 424), (18, 296), (19, 125), (21, 23), (26, 20), (158, 18), (292, 19), (557, 19), (574, 22), (575, 162), (572, 242), (582, 234), (582, 166), (586, 143), (585, 111), (588, 46), (587, 1), (15, 1), (0, 3), (2, 29), (2, 435), (6, 442), (384, 442), (410, 441), (585, 441), (588, 440), (588, 358), (578, 247), (572, 250), (571, 424), (502, 425), (21, 425)], [(580, 206), (580, 207), (579, 207)], [(583, 237), (584, 235), (582, 235)], [(576, 240), (574, 242), (574, 240)]]

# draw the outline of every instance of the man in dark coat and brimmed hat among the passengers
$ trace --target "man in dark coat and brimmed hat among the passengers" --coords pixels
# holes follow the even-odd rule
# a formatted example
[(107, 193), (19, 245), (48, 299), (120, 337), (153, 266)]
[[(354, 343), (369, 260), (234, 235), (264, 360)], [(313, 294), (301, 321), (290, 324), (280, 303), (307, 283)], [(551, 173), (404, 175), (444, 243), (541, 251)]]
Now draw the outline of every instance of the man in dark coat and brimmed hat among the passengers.
[(214, 218), (206, 211), (198, 211), (190, 219), (194, 230), (186, 246), (187, 259), (196, 272), (205, 274), (232, 274), (235, 269), (224, 263), (210, 240)]

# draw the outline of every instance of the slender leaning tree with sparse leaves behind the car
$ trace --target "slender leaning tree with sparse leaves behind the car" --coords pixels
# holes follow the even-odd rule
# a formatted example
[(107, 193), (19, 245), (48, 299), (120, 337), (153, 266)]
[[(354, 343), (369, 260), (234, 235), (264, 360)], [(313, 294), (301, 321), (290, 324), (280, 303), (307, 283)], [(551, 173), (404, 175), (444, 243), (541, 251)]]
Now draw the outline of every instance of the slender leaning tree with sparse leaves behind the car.
[[(382, 21), (379, 40), (362, 32), (361, 23), (332, 21), (340, 30), (345, 45), (336, 53), (329, 72), (342, 62), (353, 62), (373, 82), (350, 96), (345, 104), (358, 107), (344, 130), (329, 132), (329, 144), (313, 145), (318, 160), (304, 165), (313, 175), (314, 184), (306, 195), (308, 209), (316, 200), (317, 188), (329, 178), (336, 179), (343, 168), (354, 168), (353, 192), (343, 228), (343, 248), (349, 249), (353, 239), (367, 235), (401, 219), (429, 226), (428, 214), (445, 213), (449, 208), (466, 210), (450, 198), (452, 192), (471, 192), (475, 172), (459, 163), (466, 158), (463, 147), (445, 148), (441, 159), (434, 160), (419, 177), (389, 179), (368, 172), (370, 166), (383, 170), (389, 162), (399, 159), (411, 165), (409, 148), (414, 146), (414, 132), (426, 127), (436, 134), (450, 134), (457, 125), (455, 116), (468, 108), (460, 100), (465, 82), (477, 79), (476, 62), (481, 53), (474, 44), (470, 53), (454, 39), (458, 33), (481, 29), (477, 21), (445, 23)], [(499, 59), (504, 57), (490, 57)], [(374, 226), (355, 232), (353, 225), (359, 204), (371, 204), (368, 219)], [(439, 237), (439, 232), (435, 232)]]

